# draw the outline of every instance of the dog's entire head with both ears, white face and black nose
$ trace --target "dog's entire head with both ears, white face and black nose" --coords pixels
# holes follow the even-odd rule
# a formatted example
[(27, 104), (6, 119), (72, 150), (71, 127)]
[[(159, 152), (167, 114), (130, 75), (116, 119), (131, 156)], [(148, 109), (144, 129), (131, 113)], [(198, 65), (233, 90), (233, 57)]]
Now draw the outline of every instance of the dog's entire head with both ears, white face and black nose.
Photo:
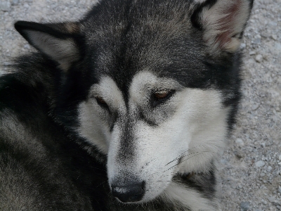
[(58, 65), (58, 120), (107, 155), (113, 195), (135, 203), (223, 148), (251, 4), (108, 0), (77, 23), (15, 27)]

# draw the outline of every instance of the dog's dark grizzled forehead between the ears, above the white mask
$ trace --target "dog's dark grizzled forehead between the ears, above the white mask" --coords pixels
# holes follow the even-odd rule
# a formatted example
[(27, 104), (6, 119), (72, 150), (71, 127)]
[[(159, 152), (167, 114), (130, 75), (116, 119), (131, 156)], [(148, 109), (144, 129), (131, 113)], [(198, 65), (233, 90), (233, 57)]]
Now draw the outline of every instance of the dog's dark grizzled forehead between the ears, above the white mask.
[(98, 5), (83, 24), (95, 77), (110, 75), (123, 92), (143, 70), (188, 84), (188, 75), (204, 69), (189, 10), (190, 3), (156, 0)]

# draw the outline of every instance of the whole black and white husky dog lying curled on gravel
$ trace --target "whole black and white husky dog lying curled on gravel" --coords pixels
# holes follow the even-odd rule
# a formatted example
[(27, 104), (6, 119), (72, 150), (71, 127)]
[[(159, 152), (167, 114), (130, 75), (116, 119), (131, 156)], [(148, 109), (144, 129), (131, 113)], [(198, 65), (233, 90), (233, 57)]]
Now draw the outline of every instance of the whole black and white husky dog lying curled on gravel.
[(1, 210), (219, 210), (253, 0), (102, 0), (18, 21), (0, 79)]

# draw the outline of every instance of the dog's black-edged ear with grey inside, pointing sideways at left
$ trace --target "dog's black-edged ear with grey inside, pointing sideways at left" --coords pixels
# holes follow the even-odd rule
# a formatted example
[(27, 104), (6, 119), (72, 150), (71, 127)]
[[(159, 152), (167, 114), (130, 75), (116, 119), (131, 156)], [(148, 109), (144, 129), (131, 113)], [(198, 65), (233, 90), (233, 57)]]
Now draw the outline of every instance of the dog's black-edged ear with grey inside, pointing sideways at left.
[(41, 24), (18, 21), (15, 29), (41, 53), (58, 62), (64, 71), (81, 56), (79, 23)]

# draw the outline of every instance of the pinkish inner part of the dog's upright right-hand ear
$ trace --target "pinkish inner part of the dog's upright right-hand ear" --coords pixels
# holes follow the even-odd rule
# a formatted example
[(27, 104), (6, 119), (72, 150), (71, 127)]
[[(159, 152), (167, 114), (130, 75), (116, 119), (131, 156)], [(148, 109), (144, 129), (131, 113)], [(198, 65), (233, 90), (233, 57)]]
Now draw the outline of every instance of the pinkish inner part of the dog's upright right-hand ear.
[(242, 6), (242, 2), (241, 0), (234, 1), (235, 3), (223, 11), (223, 14), (226, 14), (226, 16), (218, 20), (218, 25), (220, 26), (218, 30), (220, 30), (221, 33), (216, 36), (215, 43), (218, 44), (219, 48), (223, 48), (225, 44), (230, 42), (231, 37), (235, 35), (235, 20), (237, 20), (237, 15), (239, 13), (240, 6)]

